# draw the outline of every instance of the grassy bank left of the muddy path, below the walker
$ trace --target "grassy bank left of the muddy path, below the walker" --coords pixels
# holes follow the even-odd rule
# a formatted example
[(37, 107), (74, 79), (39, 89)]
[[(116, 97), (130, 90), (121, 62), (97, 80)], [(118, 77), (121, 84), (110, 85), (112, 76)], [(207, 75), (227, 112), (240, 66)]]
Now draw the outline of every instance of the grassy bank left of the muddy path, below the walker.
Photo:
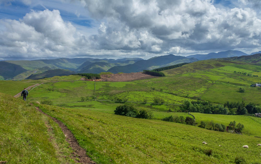
[(0, 161), (75, 163), (58, 124), (26, 102), (3, 93), (0, 97)]

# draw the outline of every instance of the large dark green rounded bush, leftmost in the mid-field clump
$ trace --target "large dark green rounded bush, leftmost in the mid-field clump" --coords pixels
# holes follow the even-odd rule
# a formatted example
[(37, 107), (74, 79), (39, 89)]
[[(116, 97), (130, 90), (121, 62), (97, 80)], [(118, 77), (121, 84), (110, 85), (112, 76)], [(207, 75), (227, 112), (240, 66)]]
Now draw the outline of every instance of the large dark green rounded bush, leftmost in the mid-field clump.
[(121, 105), (116, 107), (116, 110), (114, 110), (114, 114), (128, 117), (137, 117), (138, 110), (133, 106)]

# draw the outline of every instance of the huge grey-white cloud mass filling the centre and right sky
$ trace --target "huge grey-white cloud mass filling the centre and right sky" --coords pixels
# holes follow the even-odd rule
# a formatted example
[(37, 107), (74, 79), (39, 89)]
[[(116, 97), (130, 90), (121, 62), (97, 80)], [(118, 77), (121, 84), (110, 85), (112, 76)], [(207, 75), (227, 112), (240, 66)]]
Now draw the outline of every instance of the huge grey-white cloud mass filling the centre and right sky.
[(98, 49), (180, 54), (185, 51), (177, 47), (188, 52), (260, 47), (261, 22), (251, 8), (217, 8), (210, 0), (81, 1), (94, 18), (106, 20), (93, 36)]

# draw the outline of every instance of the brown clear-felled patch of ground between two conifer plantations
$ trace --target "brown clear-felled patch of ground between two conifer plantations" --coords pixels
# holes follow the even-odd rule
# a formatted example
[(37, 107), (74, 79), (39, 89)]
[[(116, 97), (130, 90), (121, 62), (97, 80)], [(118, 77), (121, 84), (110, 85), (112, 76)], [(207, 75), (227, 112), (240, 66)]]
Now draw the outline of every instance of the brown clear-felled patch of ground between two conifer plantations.
[(144, 74), (142, 72), (135, 72), (135, 73), (122, 73), (122, 74), (110, 74), (110, 75), (101, 75), (102, 81), (134, 81), (134, 80), (143, 80), (149, 78), (155, 78), (158, 76), (152, 76), (148, 74)]

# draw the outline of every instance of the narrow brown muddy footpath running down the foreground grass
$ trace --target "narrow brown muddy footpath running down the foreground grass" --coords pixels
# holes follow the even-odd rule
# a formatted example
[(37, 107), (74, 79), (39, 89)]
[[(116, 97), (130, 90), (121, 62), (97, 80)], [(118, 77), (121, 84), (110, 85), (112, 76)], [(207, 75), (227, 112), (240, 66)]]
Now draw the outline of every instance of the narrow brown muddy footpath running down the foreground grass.
[[(33, 105), (33, 104), (31, 104), (31, 105)], [(56, 122), (59, 125), (59, 127), (62, 129), (62, 131), (65, 135), (66, 141), (70, 144), (70, 147), (74, 150), (74, 153), (72, 154), (72, 158), (74, 158), (75, 160), (77, 158), (76, 161), (78, 161), (79, 163), (82, 163), (82, 164), (96, 164), (94, 161), (92, 161), (90, 159), (90, 157), (88, 157), (86, 155), (86, 151), (82, 147), (80, 147), (77, 140), (73, 136), (73, 133), (61, 121), (44, 113), (41, 109), (39, 109), (39, 107), (35, 107), (35, 108), (38, 111), (40, 111), (42, 114), (44, 114), (44, 115), (50, 117), (52, 120), (54, 120), (54, 122)]]

